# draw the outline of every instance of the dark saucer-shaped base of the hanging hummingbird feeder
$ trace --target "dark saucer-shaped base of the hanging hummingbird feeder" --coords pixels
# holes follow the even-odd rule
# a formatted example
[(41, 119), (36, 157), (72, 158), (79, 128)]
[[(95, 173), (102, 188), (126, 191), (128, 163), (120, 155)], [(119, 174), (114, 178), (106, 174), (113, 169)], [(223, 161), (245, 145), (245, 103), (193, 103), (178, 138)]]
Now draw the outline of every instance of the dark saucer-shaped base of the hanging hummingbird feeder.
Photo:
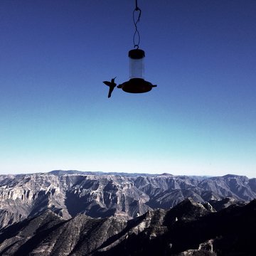
[(156, 87), (156, 85), (152, 85), (151, 82), (145, 81), (142, 78), (132, 78), (129, 81), (123, 82), (121, 85), (117, 86), (117, 88), (122, 88), (124, 92), (130, 93), (149, 92), (152, 87)]

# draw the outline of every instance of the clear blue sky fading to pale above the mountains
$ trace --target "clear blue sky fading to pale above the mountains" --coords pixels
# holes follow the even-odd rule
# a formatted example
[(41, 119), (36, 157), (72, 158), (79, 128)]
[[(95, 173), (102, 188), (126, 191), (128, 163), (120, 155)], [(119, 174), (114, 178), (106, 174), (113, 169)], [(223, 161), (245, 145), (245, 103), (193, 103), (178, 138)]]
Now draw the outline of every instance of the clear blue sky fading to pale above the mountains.
[(0, 1), (0, 174), (256, 176), (256, 1), (138, 0), (151, 92), (129, 80), (134, 0)]

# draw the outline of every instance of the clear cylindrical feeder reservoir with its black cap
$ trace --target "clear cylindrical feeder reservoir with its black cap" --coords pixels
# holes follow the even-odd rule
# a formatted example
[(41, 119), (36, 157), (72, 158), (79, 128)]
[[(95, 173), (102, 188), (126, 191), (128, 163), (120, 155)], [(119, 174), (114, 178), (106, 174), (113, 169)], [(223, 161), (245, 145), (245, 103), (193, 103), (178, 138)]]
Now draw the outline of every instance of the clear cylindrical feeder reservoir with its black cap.
[(144, 50), (129, 50), (129, 78), (144, 79)]

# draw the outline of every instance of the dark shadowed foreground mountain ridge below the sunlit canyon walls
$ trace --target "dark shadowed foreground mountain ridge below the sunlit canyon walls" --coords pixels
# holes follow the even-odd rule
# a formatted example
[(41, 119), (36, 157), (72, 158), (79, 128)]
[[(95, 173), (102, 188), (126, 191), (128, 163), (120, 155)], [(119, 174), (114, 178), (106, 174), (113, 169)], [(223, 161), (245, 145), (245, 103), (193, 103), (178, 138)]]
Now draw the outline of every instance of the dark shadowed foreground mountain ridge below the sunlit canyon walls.
[(256, 200), (216, 212), (186, 199), (124, 220), (46, 210), (0, 231), (3, 256), (254, 255)]

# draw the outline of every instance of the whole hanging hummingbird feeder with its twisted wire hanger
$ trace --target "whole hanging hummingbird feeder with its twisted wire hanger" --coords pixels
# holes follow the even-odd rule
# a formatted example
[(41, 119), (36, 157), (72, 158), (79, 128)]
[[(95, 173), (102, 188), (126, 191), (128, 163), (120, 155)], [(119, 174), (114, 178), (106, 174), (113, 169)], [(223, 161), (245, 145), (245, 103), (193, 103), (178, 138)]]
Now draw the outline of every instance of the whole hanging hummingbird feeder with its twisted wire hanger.
[[(145, 52), (142, 49), (139, 49), (139, 31), (137, 28), (137, 24), (139, 23), (139, 19), (142, 14), (142, 10), (139, 9), (137, 0), (135, 1), (135, 9), (133, 11), (133, 21), (135, 26), (134, 32), (134, 48), (133, 50), (129, 50), (129, 80), (127, 82), (123, 82), (121, 85), (118, 85), (117, 88), (122, 88), (124, 92), (130, 93), (143, 93), (149, 92), (152, 87), (156, 87), (156, 85), (152, 85), (151, 82), (144, 80), (144, 58)], [(138, 12), (138, 13), (137, 13)], [(136, 19), (136, 13), (137, 19)], [(136, 43), (137, 38), (137, 43)]]

